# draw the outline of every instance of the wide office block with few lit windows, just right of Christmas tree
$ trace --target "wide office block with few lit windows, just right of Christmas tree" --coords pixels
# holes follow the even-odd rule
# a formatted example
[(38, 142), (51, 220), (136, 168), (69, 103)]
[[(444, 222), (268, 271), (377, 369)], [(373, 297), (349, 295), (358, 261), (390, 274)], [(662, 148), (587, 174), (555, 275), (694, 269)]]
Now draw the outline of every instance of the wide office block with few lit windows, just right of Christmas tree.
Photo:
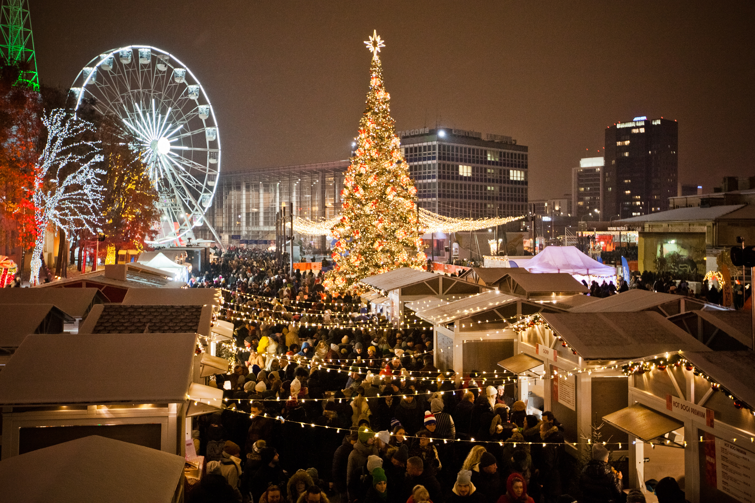
[(398, 134), (420, 207), (455, 218), (526, 213), (529, 149), (511, 136), (451, 127)]

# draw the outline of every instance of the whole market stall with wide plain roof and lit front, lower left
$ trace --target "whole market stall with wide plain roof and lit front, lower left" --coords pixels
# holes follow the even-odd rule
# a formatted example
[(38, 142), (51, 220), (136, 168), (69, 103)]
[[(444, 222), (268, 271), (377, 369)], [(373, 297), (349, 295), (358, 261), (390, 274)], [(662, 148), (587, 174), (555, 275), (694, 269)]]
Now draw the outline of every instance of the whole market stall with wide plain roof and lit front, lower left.
[(183, 455), (190, 397), (212, 404), (223, 396), (192, 382), (196, 338), (26, 336), (0, 372), (2, 459), (92, 434)]

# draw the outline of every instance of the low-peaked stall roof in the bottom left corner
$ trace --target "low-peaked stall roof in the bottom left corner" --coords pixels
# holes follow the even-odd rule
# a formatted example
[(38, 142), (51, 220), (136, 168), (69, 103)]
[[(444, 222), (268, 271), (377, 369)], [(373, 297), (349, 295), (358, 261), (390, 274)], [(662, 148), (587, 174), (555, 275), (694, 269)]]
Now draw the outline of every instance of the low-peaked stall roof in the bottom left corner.
[(92, 435), (0, 461), (3, 501), (155, 501), (170, 503), (182, 457)]

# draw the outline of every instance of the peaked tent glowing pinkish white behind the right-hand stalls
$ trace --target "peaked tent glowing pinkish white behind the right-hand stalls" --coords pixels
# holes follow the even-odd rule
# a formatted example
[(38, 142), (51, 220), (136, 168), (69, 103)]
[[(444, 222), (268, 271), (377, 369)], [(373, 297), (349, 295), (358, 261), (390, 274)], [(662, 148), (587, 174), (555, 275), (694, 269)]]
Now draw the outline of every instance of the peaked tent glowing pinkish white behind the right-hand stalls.
[(616, 282), (616, 268), (590, 259), (577, 247), (545, 247), (523, 264), (530, 272), (568, 272), (577, 281)]

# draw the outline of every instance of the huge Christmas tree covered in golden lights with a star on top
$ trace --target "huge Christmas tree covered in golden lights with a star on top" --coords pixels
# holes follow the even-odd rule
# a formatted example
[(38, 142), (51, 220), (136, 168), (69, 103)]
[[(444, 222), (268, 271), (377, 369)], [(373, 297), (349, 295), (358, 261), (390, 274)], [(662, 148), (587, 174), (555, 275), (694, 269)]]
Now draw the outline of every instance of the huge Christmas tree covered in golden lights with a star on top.
[(417, 189), (383, 84), (378, 53), (384, 43), (373, 32), (365, 44), (372, 53), (367, 108), (355, 138), (356, 156), (344, 177), (341, 218), (332, 229), (336, 266), (325, 279), (328, 287), (345, 287), (394, 268), (421, 268), (427, 260), (418, 227)]

